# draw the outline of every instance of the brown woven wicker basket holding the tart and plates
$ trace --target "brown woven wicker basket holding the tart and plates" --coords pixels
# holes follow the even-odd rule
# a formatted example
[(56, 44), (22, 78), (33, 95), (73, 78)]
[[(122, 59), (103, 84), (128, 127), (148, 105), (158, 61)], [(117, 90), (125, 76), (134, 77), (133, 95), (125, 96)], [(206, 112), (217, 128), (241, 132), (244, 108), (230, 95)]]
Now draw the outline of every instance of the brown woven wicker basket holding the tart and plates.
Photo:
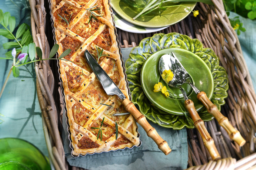
[[(226, 104), (221, 108), (221, 112), (228, 117), (235, 129), (241, 132), (246, 144), (239, 147), (231, 141), (227, 132), (215, 120), (205, 122), (205, 126), (214, 139), (222, 158), (215, 162), (211, 160), (198, 131), (187, 129), (188, 167), (190, 167), (189, 169), (211, 170), (254, 169), (256, 168), (256, 95), (240, 43), (229, 23), (222, 0), (212, 0), (212, 2), (214, 6), (198, 3), (195, 10), (199, 11), (199, 15), (196, 18), (189, 15), (179, 23), (157, 33), (177, 32), (186, 34), (190, 38), (197, 38), (201, 41), (204, 48), (214, 50), (220, 58), (221, 66), (227, 70), (230, 87)], [(36, 0), (29, 0), (29, 3), (33, 39), (36, 46), (45, 49), (43, 58), (47, 58), (50, 47), (54, 44), (52, 30), (46, 29), (51, 28), (51, 23), (46, 22), (50, 21), (49, 4), (47, 1), (44, 4), (44, 1)], [(117, 29), (117, 34), (121, 48), (126, 48), (137, 46), (143, 38), (151, 37), (155, 33), (137, 34)], [(45, 36), (47, 38), (41, 39)], [(57, 62), (55, 61), (35, 64), (37, 94), (43, 114), (45, 140), (50, 160), (55, 169), (79, 170), (83, 168), (71, 167), (65, 161), (60, 137), (64, 102), (56, 65)]]

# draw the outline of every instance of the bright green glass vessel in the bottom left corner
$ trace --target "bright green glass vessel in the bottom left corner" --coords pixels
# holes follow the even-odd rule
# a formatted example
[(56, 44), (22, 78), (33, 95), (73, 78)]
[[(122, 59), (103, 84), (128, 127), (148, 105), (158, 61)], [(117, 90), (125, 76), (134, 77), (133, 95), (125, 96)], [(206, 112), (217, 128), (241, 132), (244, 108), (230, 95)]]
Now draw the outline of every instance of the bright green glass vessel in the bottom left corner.
[(48, 159), (33, 144), (18, 138), (0, 139), (0, 170), (50, 170)]

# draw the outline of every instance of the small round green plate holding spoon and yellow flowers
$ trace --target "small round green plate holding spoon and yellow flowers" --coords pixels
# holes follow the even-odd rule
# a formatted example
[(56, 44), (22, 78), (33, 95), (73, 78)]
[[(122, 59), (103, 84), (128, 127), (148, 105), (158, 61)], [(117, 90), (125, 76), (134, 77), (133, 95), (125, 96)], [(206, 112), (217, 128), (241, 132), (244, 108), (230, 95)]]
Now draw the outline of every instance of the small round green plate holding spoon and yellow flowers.
[[(183, 115), (175, 98), (166, 98), (161, 92), (153, 91), (154, 85), (161, 82), (166, 86), (168, 91), (171, 90), (173, 92), (179, 101), (180, 106), (184, 105), (184, 98), (180, 89), (166, 85), (164, 80), (161, 78), (159, 71), (160, 58), (164, 54), (172, 55), (172, 52), (177, 56), (183, 67), (188, 71), (194, 85), (201, 91), (205, 92), (207, 97), (211, 99), (213, 94), (213, 78), (211, 70), (200, 57), (188, 50), (181, 48), (165, 48), (148, 57), (142, 66), (140, 81), (144, 93), (156, 107), (174, 115)], [(194, 102), (196, 110), (199, 111), (202, 109), (204, 105), (197, 100), (196, 93), (193, 91), (190, 85), (183, 84), (182, 87), (186, 91), (188, 98)]]

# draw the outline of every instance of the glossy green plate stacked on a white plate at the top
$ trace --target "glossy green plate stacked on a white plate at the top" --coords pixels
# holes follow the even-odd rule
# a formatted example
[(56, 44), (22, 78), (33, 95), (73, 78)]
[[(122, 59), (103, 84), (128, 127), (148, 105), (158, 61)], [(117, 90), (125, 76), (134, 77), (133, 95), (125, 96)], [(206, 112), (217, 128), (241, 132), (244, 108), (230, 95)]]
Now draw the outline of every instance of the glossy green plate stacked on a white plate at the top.
[[(150, 28), (159, 28), (176, 24), (190, 14), (190, 11), (185, 11), (185, 7), (176, 6), (166, 8), (165, 11), (162, 11), (161, 15), (159, 15), (159, 11), (155, 10), (142, 17), (132, 20), (132, 18), (139, 14), (142, 9), (125, 4), (122, 0), (111, 0), (110, 2), (112, 8), (118, 15), (120, 15), (120, 17), (131, 22), (132, 24)], [(171, 6), (174, 4), (184, 5), (191, 8), (191, 10), (193, 10), (196, 6), (196, 2), (164, 3), (164, 6)]]

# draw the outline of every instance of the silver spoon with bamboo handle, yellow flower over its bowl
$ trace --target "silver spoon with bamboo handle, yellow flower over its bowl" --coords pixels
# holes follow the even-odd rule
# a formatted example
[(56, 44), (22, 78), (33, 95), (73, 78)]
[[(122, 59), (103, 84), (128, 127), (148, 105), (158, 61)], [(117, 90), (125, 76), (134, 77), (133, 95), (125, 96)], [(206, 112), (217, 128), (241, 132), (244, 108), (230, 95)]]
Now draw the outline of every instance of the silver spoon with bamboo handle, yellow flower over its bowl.
[(163, 55), (159, 61), (159, 70), (161, 74), (163, 74), (164, 70), (172, 70), (172, 73), (173, 73), (172, 80), (169, 82), (166, 82), (166, 79), (164, 79), (164, 81), (168, 85), (172, 87), (177, 87), (181, 90), (183, 97), (185, 99), (184, 105), (188, 110), (188, 113), (191, 116), (196, 129), (199, 131), (204, 141), (204, 145), (212, 157), (212, 160), (220, 159), (220, 154), (215, 147), (212, 137), (209, 135), (208, 131), (204, 126), (204, 121), (198, 115), (193, 101), (188, 99), (186, 92), (181, 88), (181, 85), (185, 81), (185, 72), (182, 69), (180, 63), (171, 55)]

